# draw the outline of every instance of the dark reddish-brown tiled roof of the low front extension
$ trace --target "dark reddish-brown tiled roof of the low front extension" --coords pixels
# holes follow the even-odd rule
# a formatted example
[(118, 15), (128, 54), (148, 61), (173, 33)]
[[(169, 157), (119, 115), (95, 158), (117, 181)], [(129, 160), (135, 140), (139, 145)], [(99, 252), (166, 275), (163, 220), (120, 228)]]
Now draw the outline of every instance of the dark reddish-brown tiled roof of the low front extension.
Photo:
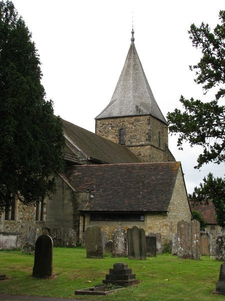
[(83, 165), (66, 175), (77, 192), (93, 192), (80, 211), (166, 212), (179, 167), (179, 162)]

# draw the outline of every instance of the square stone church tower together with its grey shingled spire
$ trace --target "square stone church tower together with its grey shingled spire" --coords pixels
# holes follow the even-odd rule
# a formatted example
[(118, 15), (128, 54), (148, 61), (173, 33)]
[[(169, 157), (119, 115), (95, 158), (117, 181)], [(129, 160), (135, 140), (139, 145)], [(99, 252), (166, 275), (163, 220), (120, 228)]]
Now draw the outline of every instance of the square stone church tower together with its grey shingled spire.
[(95, 117), (95, 133), (123, 144), (141, 162), (175, 161), (168, 149), (168, 126), (162, 115), (134, 45), (131, 44), (106, 108)]

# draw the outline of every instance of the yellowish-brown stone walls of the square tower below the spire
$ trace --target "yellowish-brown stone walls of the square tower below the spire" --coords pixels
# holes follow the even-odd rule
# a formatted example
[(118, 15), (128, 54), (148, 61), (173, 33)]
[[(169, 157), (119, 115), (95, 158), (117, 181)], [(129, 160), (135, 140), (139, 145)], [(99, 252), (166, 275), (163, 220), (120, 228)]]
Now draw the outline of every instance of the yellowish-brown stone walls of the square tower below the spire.
[[(167, 160), (168, 128), (150, 115), (98, 119), (95, 133), (119, 143), (119, 129), (124, 130), (124, 143), (142, 162)], [(169, 160), (171, 161), (171, 160)]]

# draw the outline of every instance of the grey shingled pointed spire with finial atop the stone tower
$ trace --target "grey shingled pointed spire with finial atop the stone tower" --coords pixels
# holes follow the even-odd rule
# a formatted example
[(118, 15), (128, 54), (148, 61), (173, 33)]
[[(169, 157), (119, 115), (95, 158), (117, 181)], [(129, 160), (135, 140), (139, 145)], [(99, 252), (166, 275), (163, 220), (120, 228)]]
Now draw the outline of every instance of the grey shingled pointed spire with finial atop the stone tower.
[(112, 98), (95, 119), (152, 115), (167, 124), (154, 99), (137, 55), (133, 29), (131, 34), (129, 51)]

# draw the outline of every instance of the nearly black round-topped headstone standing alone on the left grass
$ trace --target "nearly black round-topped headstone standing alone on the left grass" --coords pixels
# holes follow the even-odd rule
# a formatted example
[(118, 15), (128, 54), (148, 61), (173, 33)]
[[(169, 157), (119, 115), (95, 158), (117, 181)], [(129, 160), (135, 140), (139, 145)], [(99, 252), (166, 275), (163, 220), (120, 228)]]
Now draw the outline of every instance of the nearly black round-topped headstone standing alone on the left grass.
[(48, 235), (41, 235), (35, 243), (33, 277), (44, 278), (52, 276), (53, 241)]

